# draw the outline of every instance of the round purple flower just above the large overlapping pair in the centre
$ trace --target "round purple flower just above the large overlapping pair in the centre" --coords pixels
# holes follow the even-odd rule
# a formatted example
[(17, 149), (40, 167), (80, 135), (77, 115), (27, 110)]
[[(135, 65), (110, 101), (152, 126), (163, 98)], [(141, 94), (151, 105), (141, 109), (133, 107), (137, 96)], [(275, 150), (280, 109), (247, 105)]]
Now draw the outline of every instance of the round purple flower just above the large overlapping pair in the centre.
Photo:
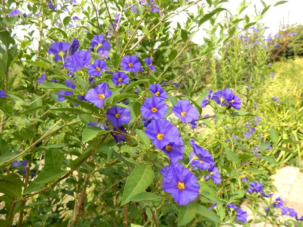
[(140, 108), (145, 119), (162, 119), (166, 116), (167, 105), (161, 98), (147, 98)]

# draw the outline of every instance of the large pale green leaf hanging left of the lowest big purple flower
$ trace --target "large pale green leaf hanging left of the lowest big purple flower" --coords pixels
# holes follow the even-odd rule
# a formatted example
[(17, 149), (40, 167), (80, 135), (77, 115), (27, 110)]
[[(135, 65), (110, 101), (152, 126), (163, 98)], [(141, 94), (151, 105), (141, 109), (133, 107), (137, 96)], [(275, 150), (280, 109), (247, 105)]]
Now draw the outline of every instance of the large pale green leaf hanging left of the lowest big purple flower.
[(124, 187), (121, 206), (130, 201), (130, 198), (143, 192), (154, 180), (154, 171), (148, 165), (139, 165), (130, 173)]

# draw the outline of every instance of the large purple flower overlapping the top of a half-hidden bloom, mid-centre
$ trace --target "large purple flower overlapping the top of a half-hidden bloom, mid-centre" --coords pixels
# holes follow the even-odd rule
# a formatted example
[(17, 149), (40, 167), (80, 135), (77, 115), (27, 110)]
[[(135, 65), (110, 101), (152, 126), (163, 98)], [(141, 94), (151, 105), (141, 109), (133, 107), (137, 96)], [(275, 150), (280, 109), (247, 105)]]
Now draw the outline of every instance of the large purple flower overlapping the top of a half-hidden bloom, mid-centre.
[(158, 149), (164, 146), (179, 141), (179, 130), (167, 120), (153, 120), (145, 128), (146, 136), (153, 141)]

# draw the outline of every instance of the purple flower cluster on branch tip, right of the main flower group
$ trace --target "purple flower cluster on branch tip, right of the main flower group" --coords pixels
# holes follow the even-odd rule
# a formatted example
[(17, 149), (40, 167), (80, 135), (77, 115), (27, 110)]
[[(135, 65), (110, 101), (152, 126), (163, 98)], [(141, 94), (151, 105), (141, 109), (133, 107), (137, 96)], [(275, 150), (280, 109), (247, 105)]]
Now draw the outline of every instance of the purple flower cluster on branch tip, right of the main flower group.
[(229, 88), (225, 88), (222, 91), (217, 91), (213, 95), (213, 90), (209, 91), (207, 97), (203, 98), (201, 107), (205, 108), (207, 103), (213, 99), (217, 102), (217, 104), (221, 106), (233, 107), (235, 109), (240, 109), (241, 100), (238, 96), (236, 96), (233, 91)]

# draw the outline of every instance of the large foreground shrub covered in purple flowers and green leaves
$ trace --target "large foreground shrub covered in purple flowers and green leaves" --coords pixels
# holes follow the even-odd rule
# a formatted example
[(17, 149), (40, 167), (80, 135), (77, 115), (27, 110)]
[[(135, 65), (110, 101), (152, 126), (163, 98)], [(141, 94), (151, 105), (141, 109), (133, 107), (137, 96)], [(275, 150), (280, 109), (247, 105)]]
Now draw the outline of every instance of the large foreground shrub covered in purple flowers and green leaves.
[[(243, 137), (250, 140), (257, 134), (251, 121), (257, 126), (261, 118), (256, 109), (244, 111), (249, 104), (241, 101), (238, 86), (226, 88), (237, 77), (202, 93), (200, 75), (189, 75), (240, 35), (237, 23), (244, 30), (257, 25), (270, 6), (249, 23), (241, 15), (248, 6), (243, 1), (231, 21), (217, 23), (226, 1), (207, 1), (183, 27), (170, 26), (199, 2), (4, 2), (2, 226), (247, 226), (241, 187), (256, 201), (271, 197), (247, 173), (258, 173), (253, 167), (265, 162), (275, 165), (264, 151), (285, 141), (272, 129), (272, 144), (256, 143), (250, 152), (237, 141), (240, 134), (215, 138), (227, 127), (239, 132), (243, 125), (233, 123), (245, 119)], [(206, 44), (192, 43), (207, 23), (212, 32)], [(202, 117), (206, 109), (213, 115)], [(201, 127), (215, 130), (206, 135), (220, 146), (201, 140)], [(293, 223), (301, 221), (280, 200), (265, 201), (294, 217)]]

